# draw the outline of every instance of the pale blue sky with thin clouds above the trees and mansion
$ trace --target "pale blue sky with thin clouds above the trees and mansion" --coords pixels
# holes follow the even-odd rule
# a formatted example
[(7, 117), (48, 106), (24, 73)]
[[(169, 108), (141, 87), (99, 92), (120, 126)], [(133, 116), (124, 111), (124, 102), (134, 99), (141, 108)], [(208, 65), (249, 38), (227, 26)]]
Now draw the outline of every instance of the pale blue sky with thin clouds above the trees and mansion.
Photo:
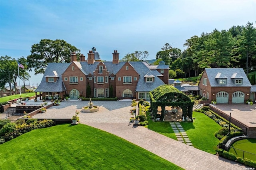
[(60, 39), (107, 61), (114, 50), (155, 59), (164, 43), (183, 50), (192, 36), (248, 21), (255, 26), (256, 0), (2, 0), (0, 55), (26, 57), (34, 43)]

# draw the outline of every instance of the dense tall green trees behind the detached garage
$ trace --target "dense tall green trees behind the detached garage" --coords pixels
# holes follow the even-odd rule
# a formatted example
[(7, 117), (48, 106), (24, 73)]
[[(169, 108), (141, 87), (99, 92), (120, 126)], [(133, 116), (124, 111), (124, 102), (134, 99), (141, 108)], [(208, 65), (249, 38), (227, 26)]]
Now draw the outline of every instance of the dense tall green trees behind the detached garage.
[(186, 77), (198, 76), (204, 68), (246, 68), (256, 66), (256, 27), (232, 26), (228, 30), (216, 30), (192, 36), (184, 43), (184, 51), (164, 44), (156, 54), (156, 62), (165, 61), (170, 69)]

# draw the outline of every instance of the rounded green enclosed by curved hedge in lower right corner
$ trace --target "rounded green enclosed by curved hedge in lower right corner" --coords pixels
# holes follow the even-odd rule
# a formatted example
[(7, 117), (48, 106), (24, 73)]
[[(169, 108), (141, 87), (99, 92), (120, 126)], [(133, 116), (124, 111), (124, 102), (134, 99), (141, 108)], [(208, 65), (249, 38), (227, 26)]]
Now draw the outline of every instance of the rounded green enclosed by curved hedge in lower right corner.
[[(233, 147), (233, 148), (231, 148)], [(241, 158), (248, 158), (250, 160), (256, 161), (256, 139), (249, 138), (249, 139), (242, 139), (234, 142), (231, 145), (229, 152), (235, 154), (236, 156), (239, 156)], [(253, 149), (254, 148), (254, 149)], [(246, 151), (246, 152), (243, 152)], [(250, 154), (250, 153), (252, 154)]]

